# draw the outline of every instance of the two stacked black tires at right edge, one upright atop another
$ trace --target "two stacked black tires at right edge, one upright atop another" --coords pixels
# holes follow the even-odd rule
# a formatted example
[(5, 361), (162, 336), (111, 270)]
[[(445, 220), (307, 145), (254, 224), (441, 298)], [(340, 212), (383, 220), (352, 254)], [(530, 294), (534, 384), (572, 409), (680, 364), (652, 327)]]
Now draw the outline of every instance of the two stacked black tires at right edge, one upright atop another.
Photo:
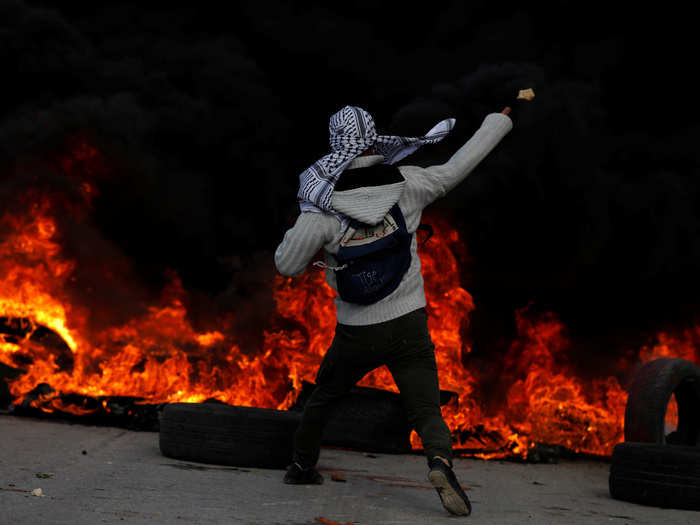
[[(666, 435), (675, 396), (677, 428)], [(661, 358), (642, 366), (629, 389), (625, 442), (610, 467), (613, 498), (655, 507), (700, 510), (700, 367)]]

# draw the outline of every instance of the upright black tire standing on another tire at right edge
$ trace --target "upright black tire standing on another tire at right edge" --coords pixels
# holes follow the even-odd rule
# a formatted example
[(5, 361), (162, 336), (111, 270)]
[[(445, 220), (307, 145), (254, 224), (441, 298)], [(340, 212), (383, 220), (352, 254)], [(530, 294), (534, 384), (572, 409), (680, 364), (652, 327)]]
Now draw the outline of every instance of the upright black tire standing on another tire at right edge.
[[(664, 419), (672, 394), (678, 404), (678, 429), (667, 440)], [(667, 357), (642, 366), (632, 381), (625, 407), (625, 441), (699, 445), (700, 367)]]

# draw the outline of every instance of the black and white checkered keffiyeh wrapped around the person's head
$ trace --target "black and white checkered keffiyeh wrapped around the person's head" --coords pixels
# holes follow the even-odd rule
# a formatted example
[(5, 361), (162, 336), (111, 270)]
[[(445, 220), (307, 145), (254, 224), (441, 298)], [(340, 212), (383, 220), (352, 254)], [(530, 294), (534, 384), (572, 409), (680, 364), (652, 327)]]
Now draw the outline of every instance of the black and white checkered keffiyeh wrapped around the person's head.
[(378, 135), (369, 113), (357, 106), (345, 106), (332, 115), (328, 123), (333, 152), (299, 175), (297, 198), (301, 211), (326, 211), (343, 222), (340, 214), (331, 206), (331, 198), (340, 174), (355, 157), (374, 146), (375, 154), (384, 156), (384, 164), (394, 164), (424, 144), (441, 141), (454, 124), (453, 118), (442, 120), (422, 137)]

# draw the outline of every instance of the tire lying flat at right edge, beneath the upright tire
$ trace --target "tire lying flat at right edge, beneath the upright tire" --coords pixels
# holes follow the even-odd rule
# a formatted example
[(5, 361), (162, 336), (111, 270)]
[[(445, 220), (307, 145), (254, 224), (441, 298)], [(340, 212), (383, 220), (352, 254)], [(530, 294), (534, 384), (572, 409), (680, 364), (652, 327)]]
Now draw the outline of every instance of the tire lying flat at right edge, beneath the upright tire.
[(609, 486), (615, 499), (700, 510), (700, 448), (619, 443), (613, 450)]

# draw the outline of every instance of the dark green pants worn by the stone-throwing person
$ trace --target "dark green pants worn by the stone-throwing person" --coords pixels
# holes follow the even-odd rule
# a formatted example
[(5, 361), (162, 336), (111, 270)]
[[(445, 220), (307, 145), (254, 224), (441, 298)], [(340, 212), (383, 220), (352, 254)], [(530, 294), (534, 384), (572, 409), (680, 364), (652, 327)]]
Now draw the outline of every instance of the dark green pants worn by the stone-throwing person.
[(451, 463), (452, 439), (440, 411), (434, 350), (425, 308), (367, 326), (338, 323), (316, 375), (316, 389), (304, 406), (294, 436), (293, 461), (303, 468), (316, 465), (333, 402), (367, 373), (387, 365), (427, 459), (442, 456)]

